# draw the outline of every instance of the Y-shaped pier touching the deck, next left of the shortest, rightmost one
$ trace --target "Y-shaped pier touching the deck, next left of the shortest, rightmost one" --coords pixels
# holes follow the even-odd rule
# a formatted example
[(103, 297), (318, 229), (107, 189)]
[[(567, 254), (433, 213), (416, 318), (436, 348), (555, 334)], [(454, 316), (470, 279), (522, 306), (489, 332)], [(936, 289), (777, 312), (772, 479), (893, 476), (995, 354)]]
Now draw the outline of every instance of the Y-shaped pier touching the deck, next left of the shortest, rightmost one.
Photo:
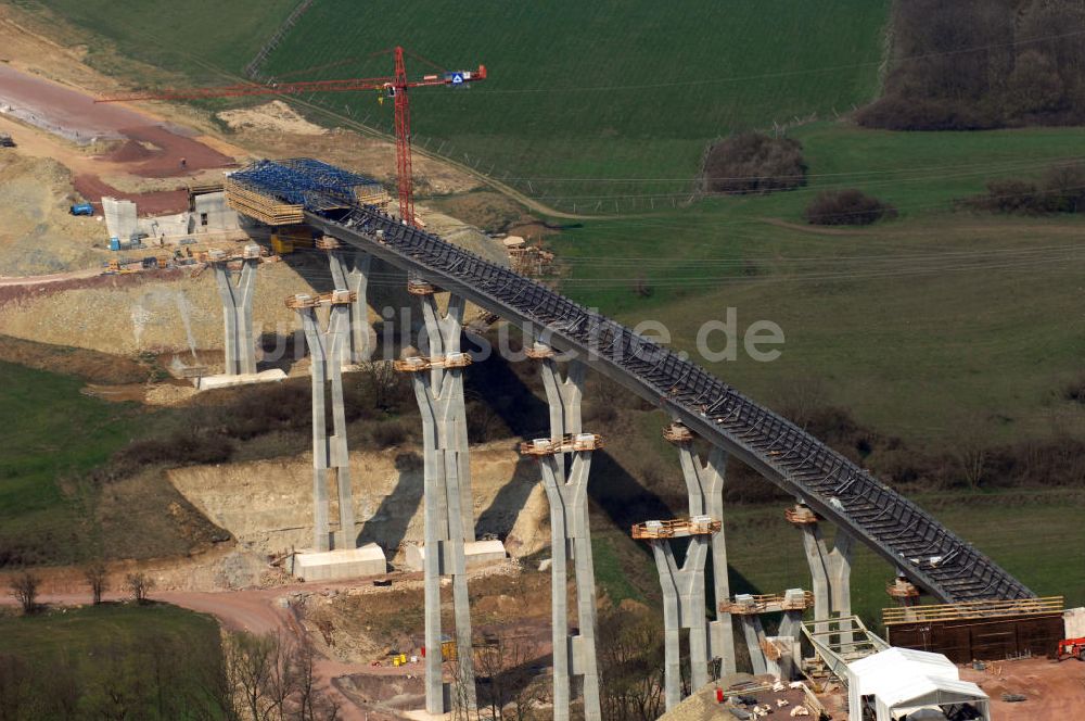
[(690, 518), (709, 516), (720, 520), (719, 531), (712, 535), (712, 587), (715, 598), (716, 620), (709, 623), (709, 659), (718, 658), (723, 674), (735, 673), (735, 629), (731, 615), (720, 610), (720, 602), (730, 597), (727, 578), (727, 537), (724, 533), (724, 472), (727, 453), (713, 446), (709, 459), (701, 458), (693, 447), (693, 434), (682, 423), (675, 421), (663, 430), (663, 438), (678, 448), (686, 491), (689, 494)]

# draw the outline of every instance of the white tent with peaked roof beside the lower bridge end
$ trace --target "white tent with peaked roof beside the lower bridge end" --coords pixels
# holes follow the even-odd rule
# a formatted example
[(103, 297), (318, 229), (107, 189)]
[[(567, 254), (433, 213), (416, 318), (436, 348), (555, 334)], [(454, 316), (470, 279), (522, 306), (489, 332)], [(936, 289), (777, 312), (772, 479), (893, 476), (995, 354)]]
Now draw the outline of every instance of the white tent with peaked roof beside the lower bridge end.
[(847, 699), (853, 721), (872, 706), (877, 721), (940, 719), (939, 709), (968, 704), (990, 721), (987, 696), (960, 680), (957, 667), (942, 654), (888, 648), (847, 667)]

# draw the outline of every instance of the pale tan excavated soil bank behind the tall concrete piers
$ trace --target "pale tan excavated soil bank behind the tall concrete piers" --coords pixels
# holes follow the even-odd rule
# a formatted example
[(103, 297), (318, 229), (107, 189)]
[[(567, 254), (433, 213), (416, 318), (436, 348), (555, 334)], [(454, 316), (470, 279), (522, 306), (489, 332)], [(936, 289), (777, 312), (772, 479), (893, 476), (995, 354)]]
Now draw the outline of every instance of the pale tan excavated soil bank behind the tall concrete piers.
[[(376, 543), (391, 561), (422, 542), (420, 448), (356, 451), (350, 454), (356, 531)], [(312, 461), (297, 457), (194, 466), (168, 471), (174, 486), (212, 522), (246, 548), (275, 555), (312, 544)], [(514, 555), (538, 551), (549, 540), (549, 521), (538, 469), (510, 443), (473, 446), (471, 486), (477, 533), (506, 539)], [(330, 517), (337, 518), (335, 493)]]

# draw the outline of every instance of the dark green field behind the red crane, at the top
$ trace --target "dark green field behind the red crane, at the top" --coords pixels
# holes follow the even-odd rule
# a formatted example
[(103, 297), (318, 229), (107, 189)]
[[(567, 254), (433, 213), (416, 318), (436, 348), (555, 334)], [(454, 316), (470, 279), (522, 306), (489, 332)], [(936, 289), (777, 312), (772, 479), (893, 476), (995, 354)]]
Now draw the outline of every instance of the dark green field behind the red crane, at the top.
[[(459, 161), (467, 153), (495, 176), (522, 178), (515, 185), (525, 191), (686, 193), (713, 138), (869, 100), (888, 5), (843, 0), (827, 12), (824, 3), (787, 0), (323, 0), (267, 69), (306, 79), (387, 75), (391, 58), (368, 55), (396, 45), (452, 69), (483, 63), (489, 79), (470, 91), (412, 93), (416, 143), (444, 144), (443, 154)], [(314, 69), (299, 73), (306, 68)], [(432, 69), (409, 59), (408, 72)], [(316, 100), (392, 127), (391, 103), (378, 106), (373, 93)], [(638, 180), (630, 189), (625, 180), (591, 178), (675, 180)]]

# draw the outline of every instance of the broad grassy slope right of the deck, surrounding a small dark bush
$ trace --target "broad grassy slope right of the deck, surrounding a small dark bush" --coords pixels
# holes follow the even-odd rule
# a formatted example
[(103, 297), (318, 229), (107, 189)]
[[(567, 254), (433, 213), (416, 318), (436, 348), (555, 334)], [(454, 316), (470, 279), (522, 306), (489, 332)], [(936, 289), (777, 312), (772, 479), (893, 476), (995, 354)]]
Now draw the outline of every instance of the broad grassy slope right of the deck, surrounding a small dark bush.
[[(740, 333), (775, 321), (787, 338), (779, 360), (740, 351), (710, 368), (777, 405), (816, 379), (825, 401), (908, 441), (1085, 430), (1083, 408), (1061, 397), (1085, 355), (1071, 320), (1085, 301), (1085, 225), (955, 213), (950, 202), (991, 178), (1039, 175), (1082, 147), (1085, 129), (899, 134), (817, 124), (793, 135), (809, 159), (808, 187), (566, 228), (553, 241), (567, 266), (564, 290), (629, 325), (658, 320), (691, 353), (701, 324), (724, 319), (728, 307)], [(889, 200), (901, 219), (806, 225), (809, 200), (840, 187)], [(720, 347), (718, 336), (712, 345)]]

